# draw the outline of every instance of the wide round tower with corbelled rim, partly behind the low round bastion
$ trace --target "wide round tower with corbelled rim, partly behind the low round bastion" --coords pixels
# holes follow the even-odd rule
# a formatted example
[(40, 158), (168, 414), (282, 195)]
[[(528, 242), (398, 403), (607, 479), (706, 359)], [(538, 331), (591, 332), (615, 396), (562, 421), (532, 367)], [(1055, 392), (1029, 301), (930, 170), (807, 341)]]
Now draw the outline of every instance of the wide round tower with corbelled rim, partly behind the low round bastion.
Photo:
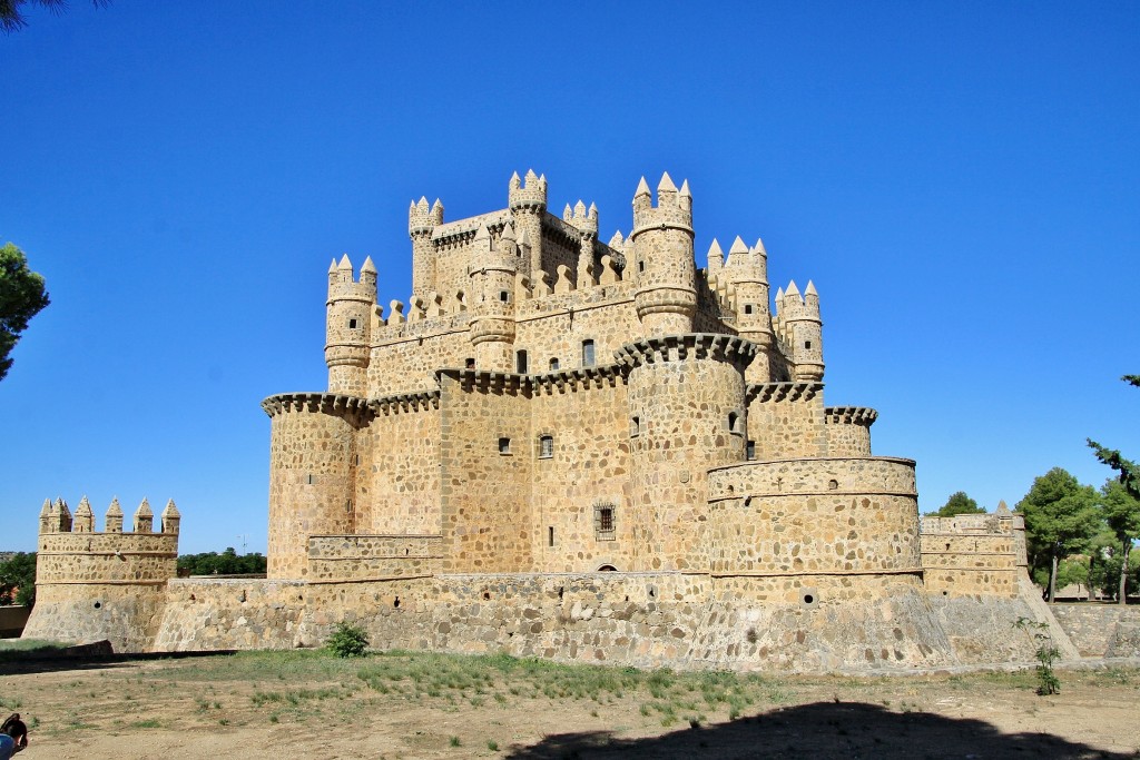
[(744, 370), (756, 346), (687, 334), (624, 346), (629, 366), (630, 570), (705, 570), (706, 479), (744, 461)]

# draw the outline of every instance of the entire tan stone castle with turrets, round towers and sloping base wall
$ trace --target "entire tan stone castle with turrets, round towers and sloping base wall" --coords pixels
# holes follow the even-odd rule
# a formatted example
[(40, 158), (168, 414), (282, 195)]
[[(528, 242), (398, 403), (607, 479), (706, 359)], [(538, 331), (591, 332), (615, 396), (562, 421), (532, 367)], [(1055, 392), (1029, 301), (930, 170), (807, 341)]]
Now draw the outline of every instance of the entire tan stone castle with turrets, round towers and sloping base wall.
[(1075, 655), (1020, 516), (920, 524), (877, 412), (824, 404), (814, 285), (773, 299), (740, 237), (697, 268), (687, 181), (642, 179), (609, 243), (534, 172), (470, 219), (421, 198), (408, 232), (409, 301), (334, 260), (328, 390), (262, 403), (268, 577), (173, 579), (172, 504), (130, 545), (49, 504), (25, 635), (287, 647), (348, 620), (378, 647), (860, 670), (1028, 660), (1026, 616)]

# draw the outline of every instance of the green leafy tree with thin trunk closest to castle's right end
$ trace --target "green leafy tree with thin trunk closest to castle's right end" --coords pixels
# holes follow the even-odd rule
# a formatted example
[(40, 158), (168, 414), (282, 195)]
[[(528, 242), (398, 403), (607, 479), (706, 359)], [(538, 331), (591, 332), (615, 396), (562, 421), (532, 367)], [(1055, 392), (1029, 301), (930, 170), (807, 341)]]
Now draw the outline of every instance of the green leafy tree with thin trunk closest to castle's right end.
[(1097, 491), (1053, 467), (1033, 481), (1017, 509), (1025, 515), (1029, 565), (1049, 570), (1049, 600), (1057, 596), (1058, 565), (1089, 546), (1100, 526)]

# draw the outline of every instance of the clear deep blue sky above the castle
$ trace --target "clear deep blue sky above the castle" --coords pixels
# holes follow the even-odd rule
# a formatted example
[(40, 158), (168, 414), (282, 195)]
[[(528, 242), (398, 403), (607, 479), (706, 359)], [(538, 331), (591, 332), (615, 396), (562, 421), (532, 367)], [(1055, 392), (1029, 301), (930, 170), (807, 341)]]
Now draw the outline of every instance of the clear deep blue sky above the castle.
[[(264, 551), (269, 420), (321, 391), (325, 271), (410, 291), (407, 206), (628, 232), (645, 174), (814, 279), (830, 404), (874, 407), (920, 508), (1140, 457), (1140, 3), (73, 0), (0, 36), (0, 243), (47, 277), (0, 382), (2, 549), (46, 497), (182, 510)], [(241, 538), (241, 537), (244, 537)]]

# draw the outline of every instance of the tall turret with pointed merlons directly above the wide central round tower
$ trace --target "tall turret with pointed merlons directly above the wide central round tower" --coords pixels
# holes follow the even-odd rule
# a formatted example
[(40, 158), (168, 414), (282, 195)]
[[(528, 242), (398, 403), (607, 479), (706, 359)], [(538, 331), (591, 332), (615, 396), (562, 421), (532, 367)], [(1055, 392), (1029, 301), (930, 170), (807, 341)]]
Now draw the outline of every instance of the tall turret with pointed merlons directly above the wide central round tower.
[(657, 187), (657, 205), (643, 177), (634, 194), (634, 302), (649, 335), (691, 333), (697, 311), (693, 198), (669, 174)]

